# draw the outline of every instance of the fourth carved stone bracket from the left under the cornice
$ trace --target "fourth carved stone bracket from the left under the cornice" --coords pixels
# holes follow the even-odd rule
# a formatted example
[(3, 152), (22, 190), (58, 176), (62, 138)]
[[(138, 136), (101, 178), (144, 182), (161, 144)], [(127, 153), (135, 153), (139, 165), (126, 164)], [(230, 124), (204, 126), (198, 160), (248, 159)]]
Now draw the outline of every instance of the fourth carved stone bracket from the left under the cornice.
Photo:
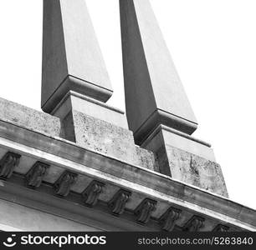
[(84, 204), (90, 208), (94, 207), (98, 202), (98, 198), (104, 186), (104, 183), (92, 181), (90, 185), (87, 188), (85, 188), (84, 192), (82, 193)]

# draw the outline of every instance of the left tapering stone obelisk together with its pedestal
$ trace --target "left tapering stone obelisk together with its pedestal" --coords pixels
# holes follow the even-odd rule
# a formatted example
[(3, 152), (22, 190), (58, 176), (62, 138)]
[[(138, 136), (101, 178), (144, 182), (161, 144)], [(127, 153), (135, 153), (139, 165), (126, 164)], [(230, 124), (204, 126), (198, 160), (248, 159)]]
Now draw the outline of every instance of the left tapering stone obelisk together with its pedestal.
[(139, 164), (124, 112), (105, 103), (110, 78), (85, 1), (44, 0), (43, 40), (42, 109), (60, 118), (61, 136)]

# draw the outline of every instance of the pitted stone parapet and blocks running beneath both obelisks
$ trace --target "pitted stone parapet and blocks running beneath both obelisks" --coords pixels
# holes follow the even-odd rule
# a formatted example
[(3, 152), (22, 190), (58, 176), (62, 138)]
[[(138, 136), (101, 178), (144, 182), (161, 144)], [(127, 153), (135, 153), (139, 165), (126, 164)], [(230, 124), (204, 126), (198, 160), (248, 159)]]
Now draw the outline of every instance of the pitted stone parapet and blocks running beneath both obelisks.
[(228, 197), (218, 163), (174, 148), (168, 143), (158, 148), (155, 156), (151, 151), (136, 146), (131, 131), (82, 112), (73, 110), (60, 122), (58, 117), (0, 98), (0, 119), (52, 137), (65, 138), (82, 148), (104, 153)]

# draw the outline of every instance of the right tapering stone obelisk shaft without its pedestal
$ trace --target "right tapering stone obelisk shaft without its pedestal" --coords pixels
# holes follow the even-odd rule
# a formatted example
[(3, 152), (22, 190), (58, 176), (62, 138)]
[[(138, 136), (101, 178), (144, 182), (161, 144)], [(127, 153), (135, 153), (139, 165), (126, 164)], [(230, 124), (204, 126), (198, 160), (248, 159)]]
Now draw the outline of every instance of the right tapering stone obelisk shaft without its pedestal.
[(125, 104), (136, 143), (158, 125), (184, 133), (197, 119), (148, 0), (120, 0)]

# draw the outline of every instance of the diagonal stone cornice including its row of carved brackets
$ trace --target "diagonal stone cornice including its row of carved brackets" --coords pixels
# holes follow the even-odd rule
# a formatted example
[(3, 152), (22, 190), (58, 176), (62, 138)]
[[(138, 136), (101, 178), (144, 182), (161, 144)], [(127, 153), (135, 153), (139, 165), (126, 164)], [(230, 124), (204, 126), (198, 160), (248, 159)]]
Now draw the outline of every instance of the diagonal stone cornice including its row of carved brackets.
[[(144, 223), (145, 230), (146, 228), (148, 230), (175, 228), (162, 221), (171, 208), (181, 211), (179, 218), (175, 217), (177, 218), (175, 226), (180, 228), (184, 228), (186, 223), (197, 216), (204, 218), (203, 225), (198, 229), (201, 231), (212, 231), (218, 225), (223, 226), (218, 228), (228, 227), (234, 231), (256, 230), (256, 212), (228, 198), (205, 192), (160, 173), (121, 162), (104, 154), (80, 148), (75, 143), (49, 137), (10, 122), (0, 121), (0, 135), (2, 157), (6, 158), (6, 153), (20, 156), (18, 165), (12, 167), (13, 174), (8, 178), (3, 176), (4, 182), (13, 183), (12, 179), (25, 179), (27, 181), (19, 181), (17, 185), (23, 185), (26, 187), (24, 190), (29, 190), (29, 193), (44, 193), (42, 187), (45, 185), (52, 189), (50, 193), (66, 201), (69, 201), (72, 193), (80, 200), (84, 209), (90, 207), (90, 209), (95, 208), (96, 211), (97, 203), (103, 204), (104, 213), (108, 216), (113, 217), (115, 210), (115, 217), (124, 218), (124, 221), (128, 218), (134, 225), (138, 224), (139, 218), (139, 223)], [(45, 173), (40, 169), (44, 173), (43, 176), (42, 171), (38, 171), (38, 176), (34, 171), (33, 178), (30, 179), (33, 179), (33, 187), (28, 187), (28, 173), (32, 173), (32, 169), (38, 166), (38, 163), (49, 167)], [(72, 173), (72, 182), (64, 182), (65, 173)], [(68, 178), (70, 179), (70, 175)], [(60, 193), (56, 191), (56, 183), (63, 187)], [(92, 186), (92, 183), (96, 186)], [(129, 198), (127, 195), (116, 198), (120, 195), (120, 190), (131, 195)], [(146, 203), (148, 205), (146, 206), (145, 200), (154, 202)], [(115, 203), (114, 210), (113, 207), (110, 209), (110, 201)], [(75, 203), (77, 202), (75, 200)], [(72, 207), (72, 201), (69, 203)], [(138, 211), (140, 211), (139, 214)], [(170, 216), (166, 216), (166, 220), (172, 222)]]

